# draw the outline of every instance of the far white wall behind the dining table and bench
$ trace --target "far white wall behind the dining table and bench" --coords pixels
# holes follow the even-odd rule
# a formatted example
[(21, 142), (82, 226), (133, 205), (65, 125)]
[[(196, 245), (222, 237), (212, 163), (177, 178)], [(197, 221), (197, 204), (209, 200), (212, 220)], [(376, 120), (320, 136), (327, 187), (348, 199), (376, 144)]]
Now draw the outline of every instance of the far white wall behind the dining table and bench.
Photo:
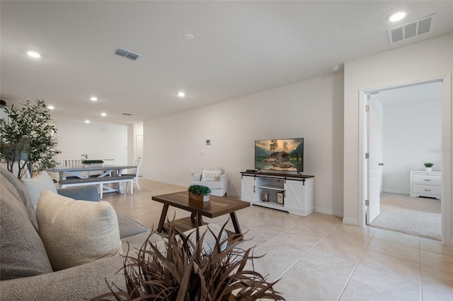
[(75, 124), (59, 122), (57, 139), (60, 158), (114, 159), (105, 164), (127, 164), (127, 126), (119, 124)]

